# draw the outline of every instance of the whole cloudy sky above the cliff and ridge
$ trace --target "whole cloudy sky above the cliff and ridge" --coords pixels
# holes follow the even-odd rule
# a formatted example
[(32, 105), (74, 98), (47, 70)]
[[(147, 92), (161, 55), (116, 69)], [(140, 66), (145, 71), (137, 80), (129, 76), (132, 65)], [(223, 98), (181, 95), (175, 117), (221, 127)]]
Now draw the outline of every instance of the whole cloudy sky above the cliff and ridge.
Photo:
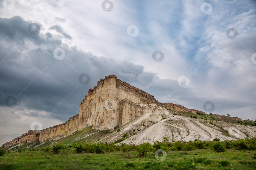
[(78, 114), (110, 74), (160, 102), (255, 120), (255, 11), (253, 0), (1, 1), (0, 144)]

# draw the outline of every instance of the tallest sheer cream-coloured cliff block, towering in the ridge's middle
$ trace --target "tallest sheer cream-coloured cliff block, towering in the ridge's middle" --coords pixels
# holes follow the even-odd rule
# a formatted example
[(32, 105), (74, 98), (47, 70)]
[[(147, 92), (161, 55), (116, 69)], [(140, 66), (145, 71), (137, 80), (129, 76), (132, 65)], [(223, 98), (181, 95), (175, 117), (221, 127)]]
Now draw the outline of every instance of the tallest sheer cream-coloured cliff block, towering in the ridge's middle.
[(145, 113), (157, 104), (154, 96), (117, 79), (115, 75), (101, 79), (89, 89), (79, 106), (79, 128), (114, 129)]

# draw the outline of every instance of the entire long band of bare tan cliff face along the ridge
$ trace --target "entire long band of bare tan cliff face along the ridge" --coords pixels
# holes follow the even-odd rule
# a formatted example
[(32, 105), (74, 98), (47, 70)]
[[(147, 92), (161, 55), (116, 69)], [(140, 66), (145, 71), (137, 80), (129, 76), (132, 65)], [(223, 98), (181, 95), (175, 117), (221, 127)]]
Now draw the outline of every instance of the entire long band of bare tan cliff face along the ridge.
[[(123, 126), (146, 113), (161, 112), (162, 110), (158, 109), (159, 105), (161, 103), (154, 96), (122, 82), (115, 75), (105, 76), (105, 79), (101, 79), (97, 86), (89, 89), (88, 94), (79, 105), (79, 114), (70, 117), (63, 124), (43, 129), (38, 133), (31, 130), (4, 145), (9, 147), (25, 141), (32, 143), (38, 140), (40, 142), (58, 140), (89, 126), (101, 130), (114, 129), (114, 127)], [(200, 112), (173, 103), (163, 103), (162, 105), (176, 111)]]

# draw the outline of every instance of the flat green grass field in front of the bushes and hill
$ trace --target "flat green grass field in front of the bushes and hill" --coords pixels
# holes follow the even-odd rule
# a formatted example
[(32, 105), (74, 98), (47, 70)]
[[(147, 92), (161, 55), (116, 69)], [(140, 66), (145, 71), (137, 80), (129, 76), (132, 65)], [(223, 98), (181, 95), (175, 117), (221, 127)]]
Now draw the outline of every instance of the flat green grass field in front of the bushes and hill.
[(164, 161), (154, 152), (138, 157), (135, 151), (105, 154), (75, 153), (74, 148), (51, 151), (10, 151), (0, 156), (0, 169), (256, 169), (255, 150), (216, 153), (208, 149), (168, 151)]

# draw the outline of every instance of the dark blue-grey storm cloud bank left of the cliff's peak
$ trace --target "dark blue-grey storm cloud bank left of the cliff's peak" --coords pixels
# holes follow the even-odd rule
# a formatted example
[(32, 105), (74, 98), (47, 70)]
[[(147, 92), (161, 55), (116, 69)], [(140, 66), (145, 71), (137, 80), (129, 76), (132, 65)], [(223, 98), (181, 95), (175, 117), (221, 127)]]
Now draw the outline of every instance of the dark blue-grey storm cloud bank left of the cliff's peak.
[[(27, 29), (29, 24), (30, 22), (18, 16), (0, 18), (0, 61), (3, 60), (0, 63), (0, 90), (4, 93), (0, 96), (1, 106), (5, 106), (6, 97), (14, 96), (18, 100), (16, 109), (44, 110), (51, 113), (64, 101), (51, 114), (64, 122), (78, 113), (78, 106), (88, 89), (96, 86), (100, 78), (106, 75), (115, 74), (122, 81), (139, 82), (141, 86), (146, 86), (155, 77), (153, 73), (143, 73), (140, 65), (97, 57), (79, 51), (76, 47), (68, 47), (50, 33), (33, 35)], [(65, 51), (64, 59), (54, 58), (53, 51), (56, 48)], [(88, 85), (78, 81), (82, 73), (91, 77)], [(138, 76), (143, 77), (143, 81)], [(36, 115), (37, 112), (30, 112), (26, 116)]]

